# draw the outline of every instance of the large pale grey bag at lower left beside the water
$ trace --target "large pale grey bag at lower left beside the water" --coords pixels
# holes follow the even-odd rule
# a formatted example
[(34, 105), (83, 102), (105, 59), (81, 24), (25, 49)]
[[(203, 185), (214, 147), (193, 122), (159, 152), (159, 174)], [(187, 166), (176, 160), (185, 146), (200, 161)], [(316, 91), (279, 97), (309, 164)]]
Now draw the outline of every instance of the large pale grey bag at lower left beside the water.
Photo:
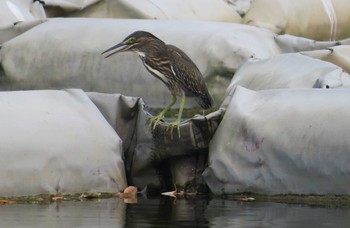
[(0, 195), (117, 192), (121, 140), (81, 90), (0, 92)]

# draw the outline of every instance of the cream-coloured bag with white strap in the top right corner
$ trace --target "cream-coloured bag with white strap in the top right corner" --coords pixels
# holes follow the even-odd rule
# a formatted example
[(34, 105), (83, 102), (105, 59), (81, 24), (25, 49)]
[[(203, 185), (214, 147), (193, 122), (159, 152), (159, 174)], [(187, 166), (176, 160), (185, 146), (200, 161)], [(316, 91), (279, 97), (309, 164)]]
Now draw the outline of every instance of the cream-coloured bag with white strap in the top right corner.
[(255, 0), (244, 23), (315, 40), (350, 36), (348, 0)]

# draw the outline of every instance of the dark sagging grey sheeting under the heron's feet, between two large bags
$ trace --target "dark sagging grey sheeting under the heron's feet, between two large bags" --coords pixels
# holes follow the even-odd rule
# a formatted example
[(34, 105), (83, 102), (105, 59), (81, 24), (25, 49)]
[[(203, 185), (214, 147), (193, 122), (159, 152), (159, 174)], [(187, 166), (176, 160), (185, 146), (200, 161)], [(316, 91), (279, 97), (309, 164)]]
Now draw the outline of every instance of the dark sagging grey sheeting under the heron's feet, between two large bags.
[[(151, 117), (140, 98), (120, 94), (87, 93), (123, 140), (123, 158), (128, 183), (139, 188), (163, 188), (166, 181), (185, 186), (202, 183), (201, 173), (207, 160), (209, 141), (221, 121), (223, 111), (183, 120), (181, 137), (171, 138), (161, 123), (154, 131), (148, 127)], [(169, 120), (168, 120), (169, 121)], [(203, 183), (204, 184), (204, 183)]]

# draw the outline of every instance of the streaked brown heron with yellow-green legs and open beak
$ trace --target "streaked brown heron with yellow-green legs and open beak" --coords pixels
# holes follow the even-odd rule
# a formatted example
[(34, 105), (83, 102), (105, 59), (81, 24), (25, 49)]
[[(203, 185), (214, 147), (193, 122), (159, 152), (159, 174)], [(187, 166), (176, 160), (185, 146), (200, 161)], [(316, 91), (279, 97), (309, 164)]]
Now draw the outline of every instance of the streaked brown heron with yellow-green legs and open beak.
[(196, 64), (178, 47), (164, 43), (162, 40), (146, 31), (136, 31), (128, 35), (123, 41), (102, 52), (108, 53), (108, 58), (119, 52), (135, 52), (141, 58), (146, 69), (161, 80), (170, 90), (171, 102), (156, 116), (149, 119), (149, 128), (155, 129), (160, 121), (164, 121), (165, 114), (180, 97), (179, 113), (176, 120), (169, 123), (167, 130), (171, 134), (174, 128), (180, 137), (182, 112), (187, 97), (194, 97), (203, 109), (213, 106), (204, 78)]

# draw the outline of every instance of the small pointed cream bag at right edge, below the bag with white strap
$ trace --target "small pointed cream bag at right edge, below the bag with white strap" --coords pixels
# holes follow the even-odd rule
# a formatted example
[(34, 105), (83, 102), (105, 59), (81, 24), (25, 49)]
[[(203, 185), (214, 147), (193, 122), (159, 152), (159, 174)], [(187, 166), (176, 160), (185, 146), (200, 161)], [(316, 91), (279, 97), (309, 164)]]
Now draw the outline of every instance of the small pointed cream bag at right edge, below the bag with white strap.
[(350, 45), (340, 45), (325, 50), (303, 52), (304, 55), (334, 63), (350, 72)]

